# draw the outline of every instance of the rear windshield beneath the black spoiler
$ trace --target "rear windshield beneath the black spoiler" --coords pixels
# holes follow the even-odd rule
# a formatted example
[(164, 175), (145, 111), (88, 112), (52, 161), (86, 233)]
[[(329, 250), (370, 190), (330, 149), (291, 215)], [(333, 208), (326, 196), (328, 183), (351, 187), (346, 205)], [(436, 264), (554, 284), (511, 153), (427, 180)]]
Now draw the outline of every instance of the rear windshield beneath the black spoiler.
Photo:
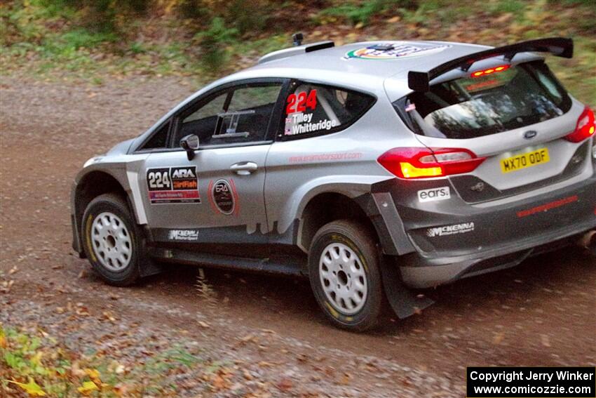
[(417, 134), (475, 138), (553, 119), (571, 108), (571, 100), (538, 61), (435, 84), (393, 105)]

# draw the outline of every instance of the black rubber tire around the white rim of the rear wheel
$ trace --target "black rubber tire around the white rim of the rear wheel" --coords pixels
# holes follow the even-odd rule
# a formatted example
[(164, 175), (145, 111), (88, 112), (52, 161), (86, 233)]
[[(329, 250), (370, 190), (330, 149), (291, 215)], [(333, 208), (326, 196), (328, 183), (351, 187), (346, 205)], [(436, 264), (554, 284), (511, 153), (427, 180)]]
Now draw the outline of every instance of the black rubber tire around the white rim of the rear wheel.
[[(366, 295), (365, 300), (363, 300), (364, 304), (360, 304), (360, 309), (355, 313), (343, 312), (338, 306), (343, 304), (344, 307), (346, 307), (346, 300), (339, 298), (339, 296), (334, 296), (334, 293), (330, 293), (330, 297), (328, 297), (327, 293), (324, 291), (323, 284), (328, 288), (330, 283), (337, 283), (339, 288), (339, 284), (344, 284), (344, 281), (346, 281), (342, 287), (346, 286), (346, 288), (349, 288), (349, 284), (351, 283), (351, 279), (339, 277), (339, 272), (341, 271), (335, 273), (331, 268), (326, 269), (326, 266), (323, 265), (321, 266), (321, 270), (327, 272), (327, 274), (331, 272), (331, 274), (335, 275), (332, 277), (331, 274), (329, 274), (330, 278), (325, 279), (325, 277), (320, 274), (319, 263), (321, 261), (321, 256), (323, 256), (324, 251), (329, 253), (326, 249), (332, 247), (330, 246), (332, 244), (343, 244), (350, 248), (363, 265), (367, 287), (365, 289)], [(358, 267), (356, 263), (355, 267)], [(309, 251), (309, 277), (311, 287), (313, 288), (313, 292), (321, 309), (327, 318), (329, 318), (336, 326), (350, 331), (366, 331), (377, 326), (379, 315), (384, 307), (383, 284), (379, 267), (379, 254), (377, 252), (376, 239), (374, 239), (374, 234), (372, 234), (372, 232), (370, 232), (364, 225), (351, 220), (337, 220), (323, 225), (323, 227), (321, 227), (315, 234)], [(337, 268), (337, 270), (339, 270), (339, 268)], [(342, 281), (342, 279), (344, 281)], [(360, 279), (360, 277), (358, 277), (358, 279)], [(331, 282), (331, 280), (334, 280), (334, 282)], [(335, 303), (333, 299), (336, 300)], [(355, 301), (351, 300), (350, 304), (355, 307), (353, 310), (358, 309), (358, 304), (356, 304)]]

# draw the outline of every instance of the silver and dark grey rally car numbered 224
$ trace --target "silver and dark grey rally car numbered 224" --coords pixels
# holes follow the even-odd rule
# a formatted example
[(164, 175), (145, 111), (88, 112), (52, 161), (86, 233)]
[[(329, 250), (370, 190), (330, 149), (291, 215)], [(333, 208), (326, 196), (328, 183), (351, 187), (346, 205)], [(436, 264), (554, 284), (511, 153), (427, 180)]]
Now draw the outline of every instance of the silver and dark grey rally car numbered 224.
[(304, 275), (355, 331), (429, 288), (584, 237), (594, 113), (536, 53), (440, 41), (301, 43), (201, 89), (89, 159), (74, 249), (110, 284), (167, 263)]

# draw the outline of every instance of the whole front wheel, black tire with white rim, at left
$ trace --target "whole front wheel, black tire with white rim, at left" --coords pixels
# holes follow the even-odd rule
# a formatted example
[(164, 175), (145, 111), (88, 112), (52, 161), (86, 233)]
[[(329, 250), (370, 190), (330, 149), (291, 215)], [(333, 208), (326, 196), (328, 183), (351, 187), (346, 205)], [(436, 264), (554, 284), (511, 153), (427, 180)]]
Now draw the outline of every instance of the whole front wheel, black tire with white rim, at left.
[(83, 215), (83, 247), (93, 270), (109, 284), (126, 286), (140, 275), (140, 230), (117, 194), (93, 199)]

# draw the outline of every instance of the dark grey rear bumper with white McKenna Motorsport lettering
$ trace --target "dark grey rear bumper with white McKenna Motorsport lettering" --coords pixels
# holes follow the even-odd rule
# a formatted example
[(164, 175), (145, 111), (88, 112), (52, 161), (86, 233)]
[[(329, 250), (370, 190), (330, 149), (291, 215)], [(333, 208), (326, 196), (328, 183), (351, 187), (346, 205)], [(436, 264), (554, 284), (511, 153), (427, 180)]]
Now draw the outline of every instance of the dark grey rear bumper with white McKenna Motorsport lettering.
[(567, 187), (494, 206), (449, 206), (446, 202), (438, 202), (440, 206), (432, 211), (398, 206), (416, 249), (399, 259), (408, 286), (428, 288), (513, 267), (595, 230), (596, 174)]

